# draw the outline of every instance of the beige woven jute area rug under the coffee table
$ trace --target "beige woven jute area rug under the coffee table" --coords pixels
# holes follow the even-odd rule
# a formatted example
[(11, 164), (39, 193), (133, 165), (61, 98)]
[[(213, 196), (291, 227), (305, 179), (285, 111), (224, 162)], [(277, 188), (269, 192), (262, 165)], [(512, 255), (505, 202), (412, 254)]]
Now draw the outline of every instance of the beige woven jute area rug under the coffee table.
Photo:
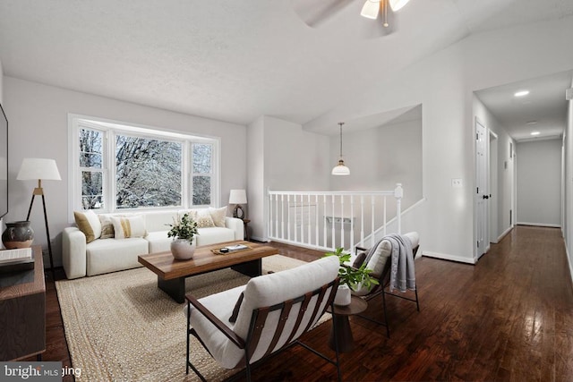
[[(263, 274), (301, 264), (281, 255), (262, 259)], [(248, 281), (248, 276), (222, 269), (188, 277), (185, 289), (202, 297)], [(149, 269), (58, 281), (56, 290), (73, 368), (81, 369), (76, 380), (198, 380), (192, 371), (185, 375), (186, 305), (159, 290)], [(210, 381), (237, 372), (218, 367), (193, 337), (192, 360)]]

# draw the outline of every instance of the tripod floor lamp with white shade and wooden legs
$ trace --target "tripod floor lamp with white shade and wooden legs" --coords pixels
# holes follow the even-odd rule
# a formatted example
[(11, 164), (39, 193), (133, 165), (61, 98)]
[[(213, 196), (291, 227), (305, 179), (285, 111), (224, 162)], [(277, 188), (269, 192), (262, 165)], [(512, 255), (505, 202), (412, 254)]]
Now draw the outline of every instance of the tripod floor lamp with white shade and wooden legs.
[(18, 181), (38, 180), (38, 187), (32, 192), (32, 199), (30, 201), (30, 208), (28, 208), (28, 216), (26, 220), (30, 220), (30, 212), (34, 204), (36, 195), (42, 197), (42, 205), (44, 206), (44, 222), (46, 223), (46, 236), (47, 236), (47, 250), (50, 256), (50, 271), (52, 278), (56, 281), (54, 275), (54, 258), (52, 256), (52, 243), (50, 238), (50, 230), (47, 226), (47, 213), (46, 213), (46, 198), (44, 197), (44, 189), (42, 188), (42, 180), (45, 181), (61, 181), (59, 171), (57, 171), (56, 161), (54, 159), (44, 159), (38, 157), (26, 157), (21, 162), (20, 172), (16, 177)]

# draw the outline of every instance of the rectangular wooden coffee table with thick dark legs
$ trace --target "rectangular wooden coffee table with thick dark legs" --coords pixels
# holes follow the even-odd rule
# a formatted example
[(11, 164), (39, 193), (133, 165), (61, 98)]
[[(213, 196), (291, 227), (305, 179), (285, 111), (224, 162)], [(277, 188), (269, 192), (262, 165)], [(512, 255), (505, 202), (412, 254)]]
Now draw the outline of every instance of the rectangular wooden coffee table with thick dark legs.
[[(247, 250), (237, 250), (225, 255), (213, 253), (213, 250), (227, 245), (244, 244)], [(231, 267), (247, 276), (261, 276), (261, 259), (278, 254), (276, 248), (255, 242), (219, 242), (213, 245), (197, 247), (190, 260), (176, 260), (170, 251), (140, 255), (137, 260), (158, 276), (158, 287), (173, 300), (182, 303), (185, 300), (185, 278), (202, 273)]]

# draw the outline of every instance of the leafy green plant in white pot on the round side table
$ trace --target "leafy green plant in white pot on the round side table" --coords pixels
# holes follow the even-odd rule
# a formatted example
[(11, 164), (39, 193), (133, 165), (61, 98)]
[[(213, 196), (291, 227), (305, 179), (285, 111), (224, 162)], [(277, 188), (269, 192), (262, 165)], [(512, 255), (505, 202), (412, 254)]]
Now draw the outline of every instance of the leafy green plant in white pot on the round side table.
[(380, 284), (375, 277), (370, 275), (372, 269), (366, 269), (365, 262), (357, 268), (347, 265), (351, 258), (350, 253), (343, 252), (342, 248), (337, 248), (334, 252), (327, 252), (324, 256), (337, 256), (340, 262), (340, 267), (338, 268), (340, 284), (334, 300), (335, 304), (348, 305), (350, 303), (351, 290), (360, 287), (370, 290), (372, 285)]

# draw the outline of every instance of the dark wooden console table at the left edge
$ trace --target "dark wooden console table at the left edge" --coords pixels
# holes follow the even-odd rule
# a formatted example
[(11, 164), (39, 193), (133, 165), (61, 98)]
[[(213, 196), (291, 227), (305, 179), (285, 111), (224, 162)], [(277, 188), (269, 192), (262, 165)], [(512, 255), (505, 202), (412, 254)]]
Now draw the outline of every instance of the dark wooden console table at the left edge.
[(0, 361), (16, 361), (46, 351), (46, 283), (41, 247), (34, 268), (0, 274)]

